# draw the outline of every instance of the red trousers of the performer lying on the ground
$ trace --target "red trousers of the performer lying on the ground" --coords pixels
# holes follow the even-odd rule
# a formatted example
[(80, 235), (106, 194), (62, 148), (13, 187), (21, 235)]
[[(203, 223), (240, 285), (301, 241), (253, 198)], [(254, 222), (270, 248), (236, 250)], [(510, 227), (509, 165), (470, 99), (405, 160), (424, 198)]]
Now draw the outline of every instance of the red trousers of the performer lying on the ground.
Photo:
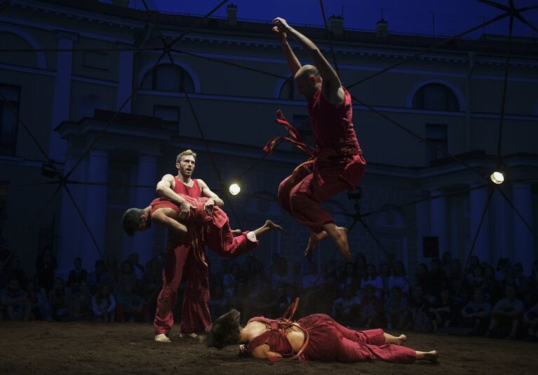
[(382, 329), (354, 331), (339, 325), (325, 314), (308, 315), (297, 320), (309, 334), (304, 360), (359, 362), (384, 360), (394, 363), (415, 362), (415, 350), (384, 343)]

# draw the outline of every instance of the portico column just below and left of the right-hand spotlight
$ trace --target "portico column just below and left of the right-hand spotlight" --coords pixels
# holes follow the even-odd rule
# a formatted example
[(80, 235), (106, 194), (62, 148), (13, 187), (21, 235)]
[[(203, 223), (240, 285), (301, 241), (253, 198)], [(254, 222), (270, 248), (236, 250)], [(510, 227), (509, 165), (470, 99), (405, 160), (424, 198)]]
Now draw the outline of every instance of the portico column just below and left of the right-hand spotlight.
[[(473, 239), (476, 235), (476, 231), (478, 230), (478, 224), (480, 224), (480, 219), (487, 203), (488, 194), (489, 192), (487, 188), (475, 189), (469, 192), (471, 201), (471, 242), (469, 243), (470, 246), (473, 245)], [(495, 259), (492, 258), (490, 247), (490, 209), (491, 207), (488, 207), (485, 214), (484, 222), (480, 228), (480, 233), (478, 234), (478, 238), (476, 240), (473, 255), (476, 255), (478, 258), (480, 258), (480, 261), (487, 261), (491, 264), (491, 262)]]

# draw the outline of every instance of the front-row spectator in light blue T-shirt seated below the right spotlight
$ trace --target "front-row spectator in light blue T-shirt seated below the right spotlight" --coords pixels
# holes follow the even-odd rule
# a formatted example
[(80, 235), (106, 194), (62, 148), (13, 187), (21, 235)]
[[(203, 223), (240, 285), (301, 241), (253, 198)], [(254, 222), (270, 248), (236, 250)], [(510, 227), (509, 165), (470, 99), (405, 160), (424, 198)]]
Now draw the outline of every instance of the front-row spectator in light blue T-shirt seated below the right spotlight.
[(506, 298), (501, 299), (492, 308), (490, 328), (487, 329), (487, 336), (491, 335), (492, 329), (499, 325), (509, 325), (510, 333), (506, 339), (516, 339), (518, 330), (523, 320), (523, 301), (516, 299), (516, 286), (506, 285), (504, 287)]

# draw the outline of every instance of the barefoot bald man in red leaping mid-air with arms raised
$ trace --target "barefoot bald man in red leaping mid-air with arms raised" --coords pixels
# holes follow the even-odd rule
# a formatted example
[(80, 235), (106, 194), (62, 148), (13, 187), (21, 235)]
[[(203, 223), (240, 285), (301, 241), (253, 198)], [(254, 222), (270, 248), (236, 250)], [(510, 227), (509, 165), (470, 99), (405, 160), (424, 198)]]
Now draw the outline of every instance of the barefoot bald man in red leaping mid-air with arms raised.
[[(275, 18), (273, 23), (273, 32), (280, 36), (299, 93), (309, 101), (308, 112), (317, 146), (311, 160), (297, 167), (281, 182), (278, 198), (282, 207), (310, 230), (305, 255), (309, 255), (316, 244), (328, 235), (335, 240), (342, 256), (349, 259), (346, 229), (336, 226), (334, 219), (320, 204), (341, 191), (355, 189), (363, 177), (366, 161), (351, 123), (351, 96), (310, 39), (290, 27), (283, 18)], [(290, 48), (287, 34), (300, 43), (314, 65), (301, 66)], [(292, 135), (298, 134), (283, 116), (278, 122), (284, 123)], [(278, 138), (272, 139), (265, 151), (270, 152)], [(300, 140), (298, 136), (295, 138)]]

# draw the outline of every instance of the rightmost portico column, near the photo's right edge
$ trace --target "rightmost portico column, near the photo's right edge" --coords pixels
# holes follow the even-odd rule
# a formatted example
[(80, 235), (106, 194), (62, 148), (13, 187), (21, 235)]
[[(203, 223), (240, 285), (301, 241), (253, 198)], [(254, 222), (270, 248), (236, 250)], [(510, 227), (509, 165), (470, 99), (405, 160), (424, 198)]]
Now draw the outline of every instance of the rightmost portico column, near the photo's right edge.
[[(512, 202), (518, 212), (532, 228), (532, 191), (530, 184), (514, 182), (512, 184)], [(525, 275), (530, 274), (532, 263), (537, 259), (534, 250), (534, 236), (523, 220), (513, 211), (513, 248), (515, 262), (523, 264)]]

